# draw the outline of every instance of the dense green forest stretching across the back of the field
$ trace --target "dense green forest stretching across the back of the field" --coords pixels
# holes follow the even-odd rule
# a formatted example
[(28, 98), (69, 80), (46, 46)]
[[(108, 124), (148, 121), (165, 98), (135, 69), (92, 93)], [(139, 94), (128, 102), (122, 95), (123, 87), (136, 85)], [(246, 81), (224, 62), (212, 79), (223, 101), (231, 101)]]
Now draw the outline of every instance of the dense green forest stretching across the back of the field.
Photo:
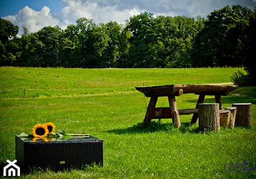
[[(255, 15), (240, 5), (207, 18), (141, 13), (126, 24), (95, 24), (85, 17), (65, 30), (44, 27), (30, 33), (0, 19), (0, 65), (64, 68), (255, 68)], [(251, 70), (251, 73), (255, 73)]]

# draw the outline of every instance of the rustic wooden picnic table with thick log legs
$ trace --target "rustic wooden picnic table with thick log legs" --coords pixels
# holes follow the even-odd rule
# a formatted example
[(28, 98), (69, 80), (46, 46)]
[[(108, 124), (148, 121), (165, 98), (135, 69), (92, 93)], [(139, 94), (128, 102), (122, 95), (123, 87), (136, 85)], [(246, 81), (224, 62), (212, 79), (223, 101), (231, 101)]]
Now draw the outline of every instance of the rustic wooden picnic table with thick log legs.
[[(163, 86), (138, 86), (135, 87), (138, 91), (144, 93), (146, 97), (150, 97), (144, 125), (147, 125), (151, 119), (166, 119), (172, 118), (175, 127), (180, 127), (179, 115), (194, 114), (191, 123), (196, 123), (198, 118), (198, 104), (204, 102), (206, 95), (214, 95), (216, 103), (219, 103), (220, 109), (223, 109), (221, 96), (228, 95), (229, 92), (236, 89), (238, 85), (223, 85), (223, 84), (172, 84)], [(196, 108), (178, 110), (175, 96), (182, 94), (194, 93), (199, 95)], [(158, 97), (168, 97), (169, 107), (157, 107)]]

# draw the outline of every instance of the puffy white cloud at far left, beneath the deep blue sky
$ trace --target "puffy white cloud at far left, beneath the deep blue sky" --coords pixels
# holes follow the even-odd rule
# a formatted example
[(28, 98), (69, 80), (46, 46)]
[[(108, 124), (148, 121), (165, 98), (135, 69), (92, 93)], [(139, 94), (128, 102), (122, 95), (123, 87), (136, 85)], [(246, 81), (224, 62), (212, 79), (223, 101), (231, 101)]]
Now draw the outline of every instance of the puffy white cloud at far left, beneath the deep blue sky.
[(23, 26), (29, 27), (31, 32), (37, 32), (46, 26), (54, 27), (58, 25), (60, 28), (66, 28), (69, 22), (67, 20), (61, 21), (50, 13), (50, 11), (50, 8), (47, 6), (44, 6), (40, 11), (35, 11), (25, 6), (16, 15), (8, 15), (3, 18), (19, 27), (19, 36), (23, 33)]

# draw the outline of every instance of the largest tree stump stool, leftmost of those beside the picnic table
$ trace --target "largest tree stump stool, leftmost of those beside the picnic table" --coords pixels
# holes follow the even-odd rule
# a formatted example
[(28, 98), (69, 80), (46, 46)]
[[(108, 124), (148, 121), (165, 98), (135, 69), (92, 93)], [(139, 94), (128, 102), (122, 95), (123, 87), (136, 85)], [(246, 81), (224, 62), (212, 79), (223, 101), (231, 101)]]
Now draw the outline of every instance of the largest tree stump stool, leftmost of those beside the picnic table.
[(220, 107), (218, 103), (198, 104), (199, 128), (203, 131), (220, 131)]

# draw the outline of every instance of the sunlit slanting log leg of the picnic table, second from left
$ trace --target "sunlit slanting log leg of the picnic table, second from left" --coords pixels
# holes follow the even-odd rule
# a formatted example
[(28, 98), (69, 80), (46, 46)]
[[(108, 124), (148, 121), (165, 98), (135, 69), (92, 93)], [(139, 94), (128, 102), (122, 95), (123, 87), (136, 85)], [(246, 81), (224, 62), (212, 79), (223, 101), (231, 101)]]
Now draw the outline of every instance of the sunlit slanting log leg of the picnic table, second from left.
[(175, 96), (168, 96), (168, 99), (169, 99), (169, 105), (170, 105), (170, 115), (172, 116), (173, 124), (175, 127), (180, 128), (181, 126), (180, 115), (179, 115), (179, 110), (175, 100)]

